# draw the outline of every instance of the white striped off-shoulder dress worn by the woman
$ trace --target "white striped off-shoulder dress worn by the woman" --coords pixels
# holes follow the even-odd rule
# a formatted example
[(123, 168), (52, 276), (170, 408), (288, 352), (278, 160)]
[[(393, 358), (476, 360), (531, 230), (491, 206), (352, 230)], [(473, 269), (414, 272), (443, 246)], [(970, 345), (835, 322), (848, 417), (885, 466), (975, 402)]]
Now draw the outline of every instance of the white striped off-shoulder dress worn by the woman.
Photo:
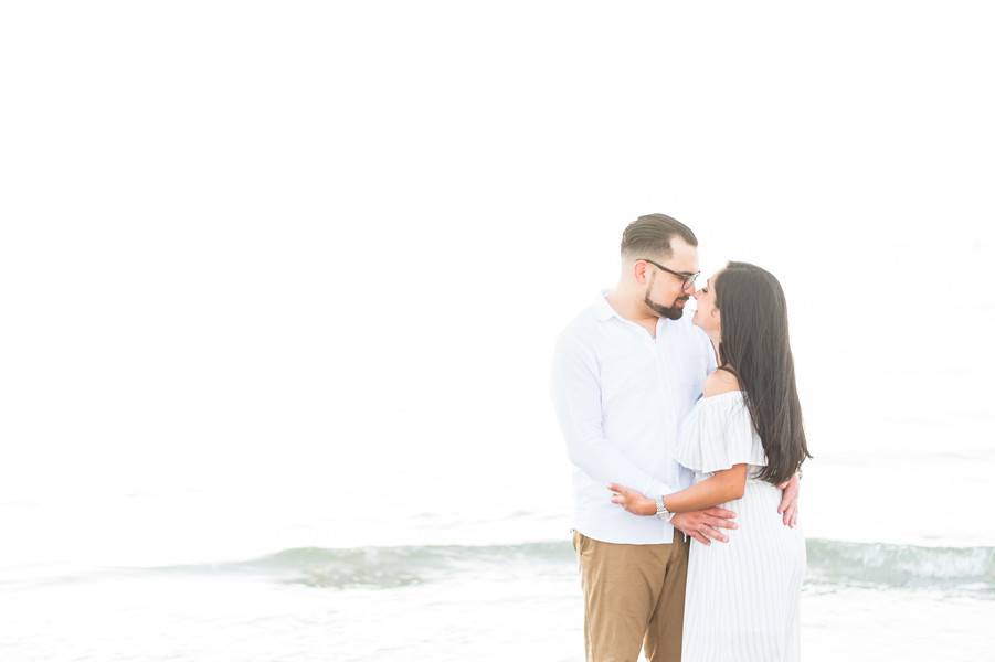
[(691, 541), (681, 662), (800, 660), (805, 537), (782, 523), (781, 491), (754, 478), (766, 455), (742, 392), (700, 398), (682, 424), (676, 457), (695, 471), (695, 482), (749, 465), (742, 499), (722, 504), (739, 525), (722, 530), (729, 542)]

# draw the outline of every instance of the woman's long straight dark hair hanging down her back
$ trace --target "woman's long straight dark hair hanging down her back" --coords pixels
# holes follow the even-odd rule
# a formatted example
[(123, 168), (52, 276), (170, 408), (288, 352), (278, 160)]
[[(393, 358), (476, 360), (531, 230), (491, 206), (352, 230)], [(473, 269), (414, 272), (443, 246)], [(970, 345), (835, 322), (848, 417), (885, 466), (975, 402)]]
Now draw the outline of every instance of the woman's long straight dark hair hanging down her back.
[(774, 276), (731, 261), (712, 282), (721, 313), (719, 363), (739, 377), (768, 465), (758, 478), (779, 484), (811, 458), (787, 338), (787, 303)]

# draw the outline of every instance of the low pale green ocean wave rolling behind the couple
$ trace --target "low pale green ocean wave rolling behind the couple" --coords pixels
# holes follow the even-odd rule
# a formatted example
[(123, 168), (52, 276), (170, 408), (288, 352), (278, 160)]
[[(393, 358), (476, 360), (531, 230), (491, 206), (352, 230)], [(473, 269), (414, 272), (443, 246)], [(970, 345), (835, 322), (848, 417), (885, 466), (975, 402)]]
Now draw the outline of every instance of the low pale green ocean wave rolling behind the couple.
[[(922, 547), (808, 538), (807, 583), (934, 589), (995, 599), (995, 547)], [(254, 574), (307, 586), (396, 588), (457, 577), (463, 573), (521, 568), (572, 572), (569, 542), (514, 545), (396, 547), (295, 547), (250, 560), (165, 566), (159, 572)]]

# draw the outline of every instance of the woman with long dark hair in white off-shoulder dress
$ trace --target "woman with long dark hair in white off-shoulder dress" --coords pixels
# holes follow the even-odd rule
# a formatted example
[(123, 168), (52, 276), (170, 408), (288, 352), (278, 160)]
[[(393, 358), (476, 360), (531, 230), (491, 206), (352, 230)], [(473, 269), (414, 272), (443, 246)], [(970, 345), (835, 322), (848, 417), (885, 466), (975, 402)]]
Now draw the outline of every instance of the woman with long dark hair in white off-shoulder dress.
[[(695, 293), (694, 322), (719, 367), (685, 419), (677, 460), (695, 484), (663, 496), (666, 513), (722, 505), (737, 513), (729, 543), (691, 543), (684, 662), (798, 660), (801, 528), (777, 514), (779, 485), (812, 457), (805, 442), (784, 292), (770, 273), (729, 263)], [(621, 485), (612, 501), (639, 515), (657, 502)], [(659, 511), (663, 512), (663, 511)]]

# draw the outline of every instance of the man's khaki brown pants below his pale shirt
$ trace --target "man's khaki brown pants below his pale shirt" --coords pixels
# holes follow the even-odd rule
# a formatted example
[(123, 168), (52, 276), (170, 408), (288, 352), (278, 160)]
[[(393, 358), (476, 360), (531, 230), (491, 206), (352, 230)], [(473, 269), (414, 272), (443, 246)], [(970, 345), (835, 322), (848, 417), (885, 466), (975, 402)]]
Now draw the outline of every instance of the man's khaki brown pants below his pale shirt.
[(688, 543), (603, 543), (573, 532), (584, 591), (588, 662), (680, 662)]

